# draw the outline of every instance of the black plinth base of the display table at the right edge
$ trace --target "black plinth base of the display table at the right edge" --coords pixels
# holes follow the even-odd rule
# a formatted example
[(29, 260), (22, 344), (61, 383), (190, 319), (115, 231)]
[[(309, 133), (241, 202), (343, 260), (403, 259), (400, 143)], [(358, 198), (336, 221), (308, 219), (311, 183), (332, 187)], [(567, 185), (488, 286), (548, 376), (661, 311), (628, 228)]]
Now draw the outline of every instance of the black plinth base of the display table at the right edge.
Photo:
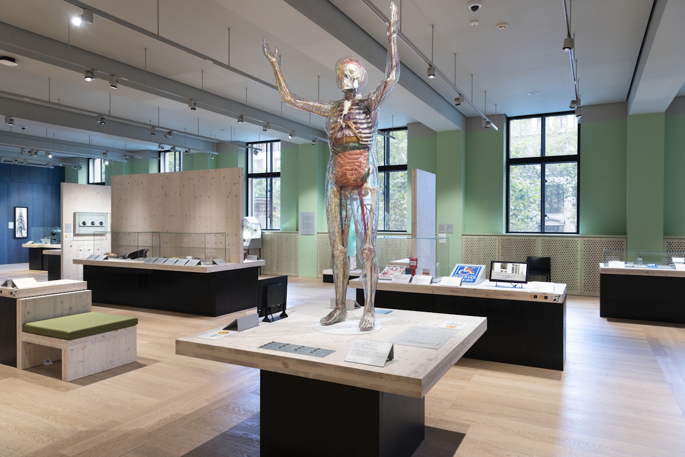
[(599, 315), (685, 323), (685, 277), (599, 275)]

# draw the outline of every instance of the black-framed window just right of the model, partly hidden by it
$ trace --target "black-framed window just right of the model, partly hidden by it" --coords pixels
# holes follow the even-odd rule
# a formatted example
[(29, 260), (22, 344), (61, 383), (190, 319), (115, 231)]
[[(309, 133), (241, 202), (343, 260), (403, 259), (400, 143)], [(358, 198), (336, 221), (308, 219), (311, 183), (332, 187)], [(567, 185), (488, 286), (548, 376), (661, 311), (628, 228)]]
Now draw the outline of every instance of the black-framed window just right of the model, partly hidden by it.
[(407, 230), (407, 127), (379, 130), (376, 162), (380, 187), (378, 230)]

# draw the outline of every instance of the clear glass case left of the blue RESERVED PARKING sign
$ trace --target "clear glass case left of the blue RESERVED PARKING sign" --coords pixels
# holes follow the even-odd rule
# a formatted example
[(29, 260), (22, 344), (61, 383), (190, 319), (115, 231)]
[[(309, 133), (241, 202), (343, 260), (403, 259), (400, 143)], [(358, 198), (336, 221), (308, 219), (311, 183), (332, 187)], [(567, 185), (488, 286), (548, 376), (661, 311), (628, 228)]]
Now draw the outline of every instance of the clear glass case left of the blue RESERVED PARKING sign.
[[(376, 252), (379, 253), (379, 243), (385, 243), (386, 248), (390, 248), (390, 251), (395, 251), (398, 249), (392, 249), (392, 245), (395, 243), (388, 243), (389, 241), (400, 241), (403, 247), (401, 252), (415, 252), (417, 259), (417, 270), (416, 274), (423, 274), (423, 270), (427, 269), (430, 275), (433, 276), (434, 281), (439, 280), (440, 277), (449, 276), (452, 271), (452, 266), (449, 264), (449, 238), (438, 237), (438, 238), (409, 238), (407, 236), (392, 236), (392, 235), (382, 235), (376, 238)], [(393, 259), (391, 262), (394, 262)], [(379, 265), (379, 267), (383, 267)], [(382, 270), (383, 268), (381, 268)]]

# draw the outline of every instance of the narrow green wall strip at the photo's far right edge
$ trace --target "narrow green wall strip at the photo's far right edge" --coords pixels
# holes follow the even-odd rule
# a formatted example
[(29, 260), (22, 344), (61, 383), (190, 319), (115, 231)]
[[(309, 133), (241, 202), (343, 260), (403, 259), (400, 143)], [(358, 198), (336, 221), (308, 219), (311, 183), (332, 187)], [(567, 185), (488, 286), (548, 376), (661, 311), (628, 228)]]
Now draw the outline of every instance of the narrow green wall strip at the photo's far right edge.
[(664, 236), (685, 236), (685, 114), (666, 116)]

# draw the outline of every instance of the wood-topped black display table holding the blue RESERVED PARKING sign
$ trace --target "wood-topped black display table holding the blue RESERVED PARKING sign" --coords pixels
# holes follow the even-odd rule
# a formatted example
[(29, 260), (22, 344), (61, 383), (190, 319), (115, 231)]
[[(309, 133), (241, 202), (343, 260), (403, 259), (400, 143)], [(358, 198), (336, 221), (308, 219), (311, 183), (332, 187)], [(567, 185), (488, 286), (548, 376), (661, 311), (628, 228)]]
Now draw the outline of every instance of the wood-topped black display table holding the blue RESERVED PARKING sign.
[[(364, 303), (361, 280), (351, 280), (358, 303)], [(566, 361), (566, 284), (554, 293), (523, 288), (447, 287), (431, 284), (391, 284), (379, 281), (377, 308), (466, 314), (488, 318), (488, 332), (466, 353), (468, 358), (563, 370)]]

